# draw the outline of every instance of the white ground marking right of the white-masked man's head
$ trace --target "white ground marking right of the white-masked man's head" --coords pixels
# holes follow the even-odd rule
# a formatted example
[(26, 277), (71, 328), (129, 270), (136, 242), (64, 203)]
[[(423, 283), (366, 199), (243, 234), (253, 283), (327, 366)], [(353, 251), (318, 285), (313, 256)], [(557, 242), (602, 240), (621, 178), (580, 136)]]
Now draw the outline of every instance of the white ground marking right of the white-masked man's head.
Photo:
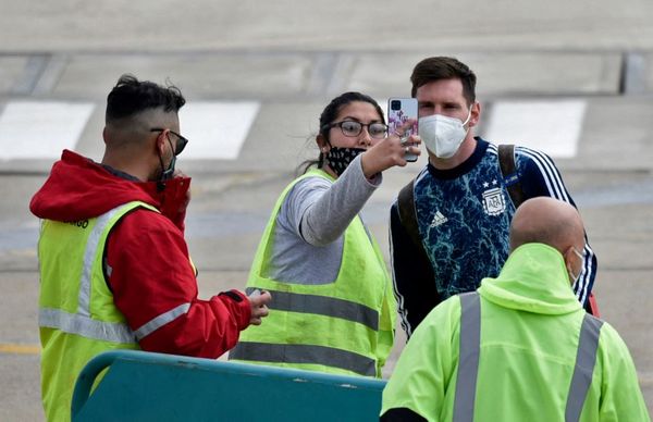
[(584, 100), (496, 101), (483, 138), (516, 144), (554, 158), (574, 158), (587, 110)]

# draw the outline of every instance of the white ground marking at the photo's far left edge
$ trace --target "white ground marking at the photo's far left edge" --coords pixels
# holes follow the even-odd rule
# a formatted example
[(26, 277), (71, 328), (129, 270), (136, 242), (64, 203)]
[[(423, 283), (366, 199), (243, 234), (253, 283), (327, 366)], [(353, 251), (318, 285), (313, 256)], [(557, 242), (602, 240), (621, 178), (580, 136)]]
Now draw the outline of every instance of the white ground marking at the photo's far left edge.
[(93, 103), (12, 101), (0, 115), (0, 160), (58, 159), (74, 149)]

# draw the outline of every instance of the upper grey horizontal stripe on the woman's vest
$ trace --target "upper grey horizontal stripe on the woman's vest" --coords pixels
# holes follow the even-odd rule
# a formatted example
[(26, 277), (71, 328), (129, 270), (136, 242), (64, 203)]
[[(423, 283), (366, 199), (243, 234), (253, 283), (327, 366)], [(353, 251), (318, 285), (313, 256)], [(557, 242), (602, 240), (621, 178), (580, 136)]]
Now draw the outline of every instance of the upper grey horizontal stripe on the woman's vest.
[[(248, 287), (245, 291), (250, 295), (254, 290), (256, 290), (255, 287)], [(267, 291), (270, 291), (274, 298), (272, 302), (268, 303), (270, 309), (341, 318), (379, 331), (379, 312), (365, 305), (328, 296), (279, 290)]]

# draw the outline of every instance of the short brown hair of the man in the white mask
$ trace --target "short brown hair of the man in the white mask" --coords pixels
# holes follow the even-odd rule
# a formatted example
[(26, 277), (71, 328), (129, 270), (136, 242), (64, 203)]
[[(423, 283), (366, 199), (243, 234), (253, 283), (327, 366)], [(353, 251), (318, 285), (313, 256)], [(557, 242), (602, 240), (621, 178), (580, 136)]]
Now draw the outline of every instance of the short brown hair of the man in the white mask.
[(467, 102), (471, 104), (476, 101), (476, 74), (467, 64), (447, 57), (428, 58), (417, 63), (410, 75), (410, 94), (415, 97), (420, 86), (442, 79), (460, 79)]

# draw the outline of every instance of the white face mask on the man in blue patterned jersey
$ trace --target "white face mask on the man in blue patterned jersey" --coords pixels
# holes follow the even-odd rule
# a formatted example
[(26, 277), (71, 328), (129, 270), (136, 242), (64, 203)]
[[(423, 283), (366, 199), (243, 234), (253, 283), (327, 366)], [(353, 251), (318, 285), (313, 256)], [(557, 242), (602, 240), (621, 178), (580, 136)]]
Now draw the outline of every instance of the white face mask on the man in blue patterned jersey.
[(438, 158), (454, 157), (467, 136), (465, 125), (471, 117), (471, 107), (465, 122), (442, 114), (432, 114), (419, 119), (419, 136), (427, 149)]

